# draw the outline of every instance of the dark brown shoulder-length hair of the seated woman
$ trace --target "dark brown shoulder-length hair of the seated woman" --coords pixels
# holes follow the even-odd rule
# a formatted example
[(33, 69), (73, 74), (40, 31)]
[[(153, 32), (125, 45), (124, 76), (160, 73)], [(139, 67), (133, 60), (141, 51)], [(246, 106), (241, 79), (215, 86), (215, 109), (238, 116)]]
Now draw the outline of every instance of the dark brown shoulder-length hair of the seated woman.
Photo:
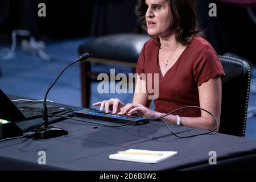
[[(184, 46), (190, 42), (193, 35), (204, 37), (196, 18), (195, 0), (166, 0), (170, 5), (172, 30), (176, 30), (176, 41)], [(145, 0), (137, 0), (135, 14), (142, 21), (142, 28), (147, 31), (147, 5)], [(159, 40), (159, 38), (156, 38)]]

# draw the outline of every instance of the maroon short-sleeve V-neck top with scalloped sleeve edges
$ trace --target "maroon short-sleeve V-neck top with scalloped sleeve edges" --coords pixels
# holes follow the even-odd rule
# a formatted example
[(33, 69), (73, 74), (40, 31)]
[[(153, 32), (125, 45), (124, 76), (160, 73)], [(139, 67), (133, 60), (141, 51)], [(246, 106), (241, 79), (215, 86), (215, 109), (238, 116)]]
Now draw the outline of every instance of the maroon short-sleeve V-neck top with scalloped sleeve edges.
[[(148, 40), (139, 55), (137, 73), (159, 74), (159, 97), (154, 100), (155, 111), (168, 113), (183, 106), (200, 106), (199, 90), (203, 82), (225, 76), (216, 51), (201, 36), (193, 36), (176, 63), (162, 76), (158, 64), (159, 46)], [(153, 81), (154, 85), (154, 81)], [(199, 109), (180, 110), (182, 117), (200, 117)]]

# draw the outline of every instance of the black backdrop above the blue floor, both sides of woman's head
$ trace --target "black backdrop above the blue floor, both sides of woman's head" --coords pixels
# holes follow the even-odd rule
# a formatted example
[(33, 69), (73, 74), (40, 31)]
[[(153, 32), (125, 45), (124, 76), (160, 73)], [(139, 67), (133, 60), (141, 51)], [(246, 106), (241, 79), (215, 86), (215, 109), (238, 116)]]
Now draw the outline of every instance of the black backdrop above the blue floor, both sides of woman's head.
[[(46, 17), (38, 16), (40, 2), (46, 4)], [(208, 15), (211, 2), (217, 4), (217, 17)], [(4, 40), (3, 35), (10, 35), (14, 28), (30, 30), (37, 39), (142, 32), (135, 5), (136, 0), (1, 0), (0, 35)], [(218, 55), (232, 52), (256, 64), (256, 26), (245, 6), (201, 0), (197, 16)]]

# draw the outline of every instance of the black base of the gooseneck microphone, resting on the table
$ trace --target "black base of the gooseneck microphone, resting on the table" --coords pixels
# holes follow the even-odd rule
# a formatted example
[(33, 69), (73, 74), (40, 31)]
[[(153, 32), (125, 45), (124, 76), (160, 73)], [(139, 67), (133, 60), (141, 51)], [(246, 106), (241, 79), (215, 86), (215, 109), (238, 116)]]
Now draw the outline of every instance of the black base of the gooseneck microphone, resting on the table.
[(62, 135), (68, 135), (68, 131), (61, 129), (60, 127), (54, 127), (54, 126), (40, 126), (32, 131), (35, 132), (34, 138), (36, 139), (46, 139), (46, 138), (54, 138), (54, 137), (60, 137)]

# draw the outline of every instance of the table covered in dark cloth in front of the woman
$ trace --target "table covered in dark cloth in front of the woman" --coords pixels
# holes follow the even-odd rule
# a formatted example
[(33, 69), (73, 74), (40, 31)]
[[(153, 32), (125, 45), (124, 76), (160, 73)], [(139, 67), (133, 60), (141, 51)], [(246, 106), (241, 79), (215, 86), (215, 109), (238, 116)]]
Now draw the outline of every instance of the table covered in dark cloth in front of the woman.
[[(74, 110), (79, 107), (73, 107)], [(66, 115), (72, 116), (71, 113)], [(73, 117), (76, 118), (76, 117)], [(57, 120), (55, 120), (57, 119)], [(78, 118), (77, 118), (78, 119)], [(51, 125), (68, 135), (49, 139), (17, 138), (0, 142), (0, 170), (79, 170), (79, 171), (162, 171), (197, 169), (256, 169), (256, 140), (210, 133), (191, 138), (175, 137), (162, 122), (122, 127), (100, 126), (89, 122), (117, 126), (120, 123), (97, 119), (51, 118)], [(42, 118), (18, 122), (25, 132), (42, 122)], [(170, 125), (179, 135), (205, 133), (204, 130)], [(117, 151), (133, 149), (177, 151), (155, 164), (109, 159)], [(40, 164), (40, 151), (46, 164)], [(210, 163), (212, 152), (216, 164)]]

